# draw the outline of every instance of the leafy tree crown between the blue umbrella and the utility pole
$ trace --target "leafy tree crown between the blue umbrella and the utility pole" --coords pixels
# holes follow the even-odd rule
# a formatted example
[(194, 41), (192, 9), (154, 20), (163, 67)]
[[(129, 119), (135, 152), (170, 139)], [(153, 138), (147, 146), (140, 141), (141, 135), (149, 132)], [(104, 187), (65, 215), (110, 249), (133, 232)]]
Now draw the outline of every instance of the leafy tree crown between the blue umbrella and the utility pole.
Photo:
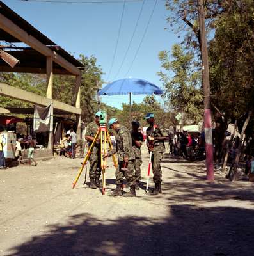
[(202, 119), (202, 90), (200, 66), (191, 52), (184, 52), (179, 44), (169, 52), (159, 52), (161, 71), (158, 75), (166, 92), (164, 97), (174, 112), (186, 113), (196, 122)]

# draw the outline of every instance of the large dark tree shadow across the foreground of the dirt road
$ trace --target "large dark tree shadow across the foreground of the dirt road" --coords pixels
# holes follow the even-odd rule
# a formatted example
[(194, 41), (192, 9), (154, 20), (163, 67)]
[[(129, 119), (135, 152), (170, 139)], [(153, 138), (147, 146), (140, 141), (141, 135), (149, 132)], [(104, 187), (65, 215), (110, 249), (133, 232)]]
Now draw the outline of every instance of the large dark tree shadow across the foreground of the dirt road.
[(10, 248), (8, 256), (252, 256), (253, 214), (235, 207), (171, 205), (168, 218), (69, 216), (66, 225)]

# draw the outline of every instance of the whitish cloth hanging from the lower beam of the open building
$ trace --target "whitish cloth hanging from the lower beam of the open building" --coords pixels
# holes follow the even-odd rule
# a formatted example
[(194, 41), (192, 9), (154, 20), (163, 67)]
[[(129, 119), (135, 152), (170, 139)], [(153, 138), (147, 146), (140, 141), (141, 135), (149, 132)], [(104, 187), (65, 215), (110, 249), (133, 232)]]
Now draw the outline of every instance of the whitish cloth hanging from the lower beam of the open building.
[(35, 111), (33, 114), (33, 131), (35, 132), (52, 132), (53, 122), (51, 122), (51, 117), (53, 116), (52, 104), (42, 108), (40, 106), (35, 106)]

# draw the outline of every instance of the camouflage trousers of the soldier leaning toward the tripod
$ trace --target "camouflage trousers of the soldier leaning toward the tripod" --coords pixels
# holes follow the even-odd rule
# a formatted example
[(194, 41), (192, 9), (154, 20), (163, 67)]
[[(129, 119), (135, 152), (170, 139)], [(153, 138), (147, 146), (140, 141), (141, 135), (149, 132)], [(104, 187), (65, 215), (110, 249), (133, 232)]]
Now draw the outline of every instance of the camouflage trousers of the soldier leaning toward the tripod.
[(122, 185), (123, 179), (125, 179), (128, 182), (129, 186), (135, 185), (135, 177), (134, 177), (134, 160), (129, 160), (127, 164), (127, 170), (122, 170), (122, 167), (124, 166), (123, 161), (118, 161), (118, 165), (116, 168), (116, 185)]

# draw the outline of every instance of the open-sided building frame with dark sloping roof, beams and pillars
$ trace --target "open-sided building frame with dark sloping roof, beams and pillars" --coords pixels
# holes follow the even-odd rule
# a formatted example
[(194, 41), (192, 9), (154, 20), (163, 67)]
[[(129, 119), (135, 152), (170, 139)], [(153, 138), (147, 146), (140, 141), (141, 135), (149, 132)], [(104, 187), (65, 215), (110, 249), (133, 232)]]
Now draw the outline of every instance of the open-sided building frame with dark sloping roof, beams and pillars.
[[(0, 72), (47, 74), (47, 95), (45, 97), (4, 83), (0, 83), (0, 96), (31, 102), (40, 106), (47, 106), (52, 103), (55, 112), (74, 113), (77, 116), (77, 136), (80, 136), (80, 84), (81, 70), (84, 65), (20, 15), (13, 12), (2, 1), (0, 1), (0, 41), (2, 44), (6, 44), (0, 45), (1, 51), (7, 52), (19, 60), (19, 63), (12, 68), (0, 58)], [(52, 99), (53, 74), (75, 76), (74, 106)]]

